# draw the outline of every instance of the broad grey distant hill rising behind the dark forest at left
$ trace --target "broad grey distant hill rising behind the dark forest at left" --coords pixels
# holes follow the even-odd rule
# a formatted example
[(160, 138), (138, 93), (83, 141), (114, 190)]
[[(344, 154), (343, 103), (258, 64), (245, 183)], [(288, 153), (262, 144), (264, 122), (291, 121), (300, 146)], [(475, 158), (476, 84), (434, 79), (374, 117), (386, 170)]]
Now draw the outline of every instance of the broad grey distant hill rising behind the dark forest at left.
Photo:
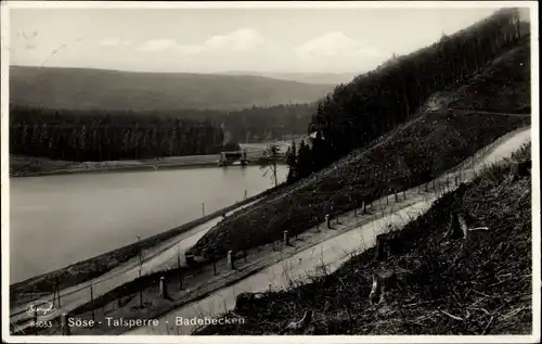
[(10, 102), (73, 110), (240, 110), (321, 99), (334, 85), (250, 75), (10, 67)]

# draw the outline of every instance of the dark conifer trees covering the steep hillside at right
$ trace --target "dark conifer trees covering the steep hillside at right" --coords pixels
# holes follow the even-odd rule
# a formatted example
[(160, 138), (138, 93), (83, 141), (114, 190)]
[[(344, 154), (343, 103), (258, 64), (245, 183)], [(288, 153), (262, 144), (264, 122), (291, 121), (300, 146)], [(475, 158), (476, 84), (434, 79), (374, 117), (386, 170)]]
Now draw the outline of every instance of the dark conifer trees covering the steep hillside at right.
[(309, 133), (312, 148), (288, 152), (295, 181), (364, 146), (408, 122), (437, 91), (459, 85), (517, 44), (522, 25), (517, 9), (503, 9), (452, 36), (339, 85), (317, 104)]

